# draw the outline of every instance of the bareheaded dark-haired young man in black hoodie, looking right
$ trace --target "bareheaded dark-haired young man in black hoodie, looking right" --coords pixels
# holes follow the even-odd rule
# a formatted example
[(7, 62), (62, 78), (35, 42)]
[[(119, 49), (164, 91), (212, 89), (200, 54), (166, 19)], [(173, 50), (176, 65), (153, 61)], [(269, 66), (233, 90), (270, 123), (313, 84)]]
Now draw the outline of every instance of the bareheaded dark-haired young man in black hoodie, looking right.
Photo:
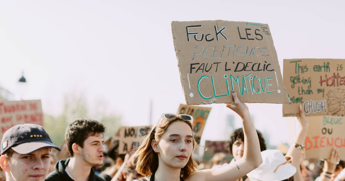
[(76, 119), (66, 129), (65, 141), (70, 158), (60, 160), (46, 181), (104, 181), (94, 166), (103, 164), (103, 124), (86, 118)]

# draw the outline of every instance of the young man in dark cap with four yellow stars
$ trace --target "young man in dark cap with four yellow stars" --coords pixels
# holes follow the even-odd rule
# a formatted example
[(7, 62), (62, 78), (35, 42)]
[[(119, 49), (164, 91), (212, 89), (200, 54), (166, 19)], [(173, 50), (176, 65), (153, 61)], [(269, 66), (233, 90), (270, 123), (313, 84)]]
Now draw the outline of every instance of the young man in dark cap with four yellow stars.
[(43, 181), (48, 175), (52, 143), (37, 124), (18, 124), (8, 129), (1, 140), (0, 166), (7, 181)]

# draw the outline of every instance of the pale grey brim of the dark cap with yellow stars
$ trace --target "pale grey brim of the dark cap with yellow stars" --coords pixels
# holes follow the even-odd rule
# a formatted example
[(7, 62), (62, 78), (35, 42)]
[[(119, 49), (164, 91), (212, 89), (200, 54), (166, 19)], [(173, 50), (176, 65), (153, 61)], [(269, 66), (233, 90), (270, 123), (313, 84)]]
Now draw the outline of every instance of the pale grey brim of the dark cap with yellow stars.
[(55, 144), (53, 144), (50, 141), (30, 141), (30, 142), (18, 144), (17, 146), (11, 147), (11, 148), (19, 154), (29, 154), (39, 149), (49, 148), (49, 147), (55, 148), (61, 151), (59, 147), (57, 147)]

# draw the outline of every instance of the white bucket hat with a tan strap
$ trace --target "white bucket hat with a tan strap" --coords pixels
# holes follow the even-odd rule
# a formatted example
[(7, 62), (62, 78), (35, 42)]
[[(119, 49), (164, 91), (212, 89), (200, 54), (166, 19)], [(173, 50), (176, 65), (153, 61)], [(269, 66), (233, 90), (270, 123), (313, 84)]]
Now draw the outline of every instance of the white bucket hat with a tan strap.
[(279, 150), (265, 150), (261, 156), (262, 164), (247, 174), (251, 181), (282, 181), (296, 173), (296, 168), (289, 163), (292, 158), (284, 157)]

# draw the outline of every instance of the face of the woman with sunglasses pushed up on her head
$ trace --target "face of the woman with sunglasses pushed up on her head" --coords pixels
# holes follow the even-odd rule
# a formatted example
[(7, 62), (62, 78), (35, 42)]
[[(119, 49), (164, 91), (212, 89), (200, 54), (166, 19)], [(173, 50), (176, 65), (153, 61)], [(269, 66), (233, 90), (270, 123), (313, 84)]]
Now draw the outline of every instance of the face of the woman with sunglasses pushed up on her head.
[(157, 143), (152, 147), (158, 152), (159, 165), (172, 168), (184, 168), (193, 151), (193, 131), (184, 121), (170, 123)]

